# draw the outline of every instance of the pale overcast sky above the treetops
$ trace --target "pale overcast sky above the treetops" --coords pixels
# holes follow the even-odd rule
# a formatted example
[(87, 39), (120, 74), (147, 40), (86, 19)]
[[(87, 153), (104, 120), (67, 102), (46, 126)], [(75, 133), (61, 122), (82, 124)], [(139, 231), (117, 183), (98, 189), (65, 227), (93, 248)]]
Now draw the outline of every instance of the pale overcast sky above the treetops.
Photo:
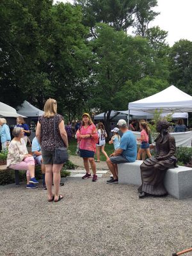
[[(60, 0), (73, 3), (72, 0)], [(168, 31), (167, 42), (172, 46), (180, 39), (192, 41), (192, 0), (157, 0), (156, 12), (161, 12), (150, 26)], [(54, 1), (56, 3), (56, 1)]]

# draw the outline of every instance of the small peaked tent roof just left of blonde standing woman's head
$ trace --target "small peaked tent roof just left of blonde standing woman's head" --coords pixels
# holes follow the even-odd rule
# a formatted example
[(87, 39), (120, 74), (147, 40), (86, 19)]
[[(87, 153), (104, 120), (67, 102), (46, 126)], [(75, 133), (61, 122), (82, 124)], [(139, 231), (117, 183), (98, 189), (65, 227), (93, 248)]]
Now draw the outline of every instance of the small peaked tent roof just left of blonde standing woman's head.
[(27, 100), (25, 100), (23, 104), (19, 107), (18, 113), (20, 115), (31, 116), (31, 117), (44, 115), (44, 111), (31, 105)]

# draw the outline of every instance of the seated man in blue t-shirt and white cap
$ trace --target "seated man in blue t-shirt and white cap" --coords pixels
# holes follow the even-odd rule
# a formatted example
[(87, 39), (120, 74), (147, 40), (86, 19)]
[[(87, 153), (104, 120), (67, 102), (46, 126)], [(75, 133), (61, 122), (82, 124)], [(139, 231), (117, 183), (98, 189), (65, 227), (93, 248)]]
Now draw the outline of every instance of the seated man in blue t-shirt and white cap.
[(137, 157), (137, 143), (132, 131), (127, 128), (127, 123), (124, 119), (118, 120), (118, 128), (123, 133), (119, 147), (107, 159), (109, 170), (113, 174), (113, 178), (108, 180), (108, 184), (118, 183), (117, 164), (132, 163)]

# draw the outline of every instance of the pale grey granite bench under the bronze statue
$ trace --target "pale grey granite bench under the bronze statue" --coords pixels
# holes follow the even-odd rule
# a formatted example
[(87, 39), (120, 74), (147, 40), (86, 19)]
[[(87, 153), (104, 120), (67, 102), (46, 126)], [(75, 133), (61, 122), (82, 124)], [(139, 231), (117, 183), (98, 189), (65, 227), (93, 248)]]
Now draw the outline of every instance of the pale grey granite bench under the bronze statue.
[[(118, 183), (141, 185), (141, 160), (134, 163), (118, 164)], [(179, 166), (168, 169), (164, 177), (164, 187), (169, 195), (177, 199), (192, 197), (192, 168)]]

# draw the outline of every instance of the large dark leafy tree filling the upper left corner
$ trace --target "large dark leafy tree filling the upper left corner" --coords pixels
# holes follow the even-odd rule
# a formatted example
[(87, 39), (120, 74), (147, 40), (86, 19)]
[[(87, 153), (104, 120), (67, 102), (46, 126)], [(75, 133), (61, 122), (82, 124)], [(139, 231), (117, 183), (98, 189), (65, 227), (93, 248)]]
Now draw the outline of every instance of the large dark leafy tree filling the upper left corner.
[(42, 108), (54, 97), (69, 119), (83, 108), (92, 54), (82, 17), (72, 4), (1, 1), (0, 100), (16, 107), (26, 99)]

